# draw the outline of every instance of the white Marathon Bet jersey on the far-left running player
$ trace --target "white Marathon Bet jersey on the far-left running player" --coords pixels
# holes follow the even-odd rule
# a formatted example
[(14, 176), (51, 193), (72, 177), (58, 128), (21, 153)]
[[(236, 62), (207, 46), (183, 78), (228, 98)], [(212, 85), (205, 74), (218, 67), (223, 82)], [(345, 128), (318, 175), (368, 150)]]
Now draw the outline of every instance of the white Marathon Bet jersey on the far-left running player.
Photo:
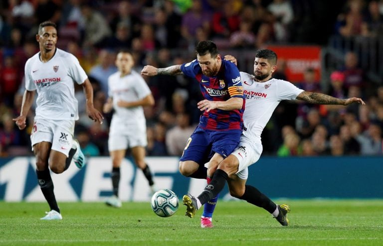
[(74, 82), (82, 84), (88, 78), (77, 58), (57, 49), (43, 63), (40, 52), (25, 63), (25, 89), (37, 90), (35, 119), (78, 120), (78, 103), (74, 97)]

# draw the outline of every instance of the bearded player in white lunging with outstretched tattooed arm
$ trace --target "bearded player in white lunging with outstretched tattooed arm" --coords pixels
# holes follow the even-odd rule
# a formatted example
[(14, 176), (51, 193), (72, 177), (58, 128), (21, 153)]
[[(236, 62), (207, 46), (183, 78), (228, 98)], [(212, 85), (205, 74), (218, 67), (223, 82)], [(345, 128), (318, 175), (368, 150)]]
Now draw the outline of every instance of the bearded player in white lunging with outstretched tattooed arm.
[[(234, 61), (235, 59), (230, 59)], [(186, 215), (193, 217), (199, 209), (223, 189), (227, 181), (230, 195), (261, 207), (273, 215), (282, 225), (288, 226), (286, 204), (276, 205), (253, 186), (246, 185), (248, 166), (258, 161), (262, 153), (261, 133), (275, 108), (282, 100), (303, 100), (313, 104), (333, 104), (347, 106), (352, 103), (365, 105), (360, 98), (338, 99), (322, 93), (306, 92), (290, 82), (273, 79), (277, 69), (277, 55), (269, 49), (258, 50), (254, 60), (254, 75), (240, 72), (246, 106), (243, 114), (244, 129), (238, 147), (223, 161), (214, 172), (209, 185), (198, 197), (185, 195)], [(277, 171), (277, 170), (276, 170)]]

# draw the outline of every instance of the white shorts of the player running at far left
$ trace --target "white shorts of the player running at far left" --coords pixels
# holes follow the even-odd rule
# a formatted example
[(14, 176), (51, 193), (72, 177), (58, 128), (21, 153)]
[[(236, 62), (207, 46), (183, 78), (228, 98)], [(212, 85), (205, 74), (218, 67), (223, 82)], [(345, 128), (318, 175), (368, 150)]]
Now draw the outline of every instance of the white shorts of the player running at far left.
[(69, 150), (72, 148), (74, 133), (74, 121), (68, 120), (35, 120), (30, 135), (33, 146), (39, 142), (52, 143), (51, 149), (61, 152), (68, 157)]

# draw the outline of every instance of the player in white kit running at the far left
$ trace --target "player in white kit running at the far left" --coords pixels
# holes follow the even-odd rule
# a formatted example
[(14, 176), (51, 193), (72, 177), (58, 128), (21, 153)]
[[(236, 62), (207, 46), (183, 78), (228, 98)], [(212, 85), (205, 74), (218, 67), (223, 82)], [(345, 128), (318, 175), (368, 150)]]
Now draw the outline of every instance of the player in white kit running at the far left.
[(42, 22), (36, 40), (40, 52), (25, 64), (21, 112), (13, 121), (19, 129), (25, 128), (26, 116), (37, 91), (36, 115), (30, 139), (36, 157), (38, 184), (50, 207), (41, 220), (61, 220), (49, 169), (54, 173), (62, 173), (69, 167), (72, 158), (78, 168), (85, 164), (80, 145), (73, 139), (74, 123), (78, 120), (74, 82), (84, 88), (89, 118), (102, 123), (103, 117), (93, 107), (93, 89), (77, 58), (56, 48), (56, 24)]

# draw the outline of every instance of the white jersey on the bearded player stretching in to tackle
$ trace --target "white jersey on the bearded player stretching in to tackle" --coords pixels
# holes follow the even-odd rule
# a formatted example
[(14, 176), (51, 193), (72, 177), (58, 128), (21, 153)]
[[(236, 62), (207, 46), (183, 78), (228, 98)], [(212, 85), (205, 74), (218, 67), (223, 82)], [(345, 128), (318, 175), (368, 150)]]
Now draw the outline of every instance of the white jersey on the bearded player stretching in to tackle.
[[(243, 135), (248, 139), (261, 140), (261, 133), (270, 120), (275, 108), (282, 100), (295, 100), (304, 92), (288, 81), (270, 79), (256, 82), (254, 76), (240, 72), (246, 98)], [(241, 139), (242, 140), (242, 139)]]

